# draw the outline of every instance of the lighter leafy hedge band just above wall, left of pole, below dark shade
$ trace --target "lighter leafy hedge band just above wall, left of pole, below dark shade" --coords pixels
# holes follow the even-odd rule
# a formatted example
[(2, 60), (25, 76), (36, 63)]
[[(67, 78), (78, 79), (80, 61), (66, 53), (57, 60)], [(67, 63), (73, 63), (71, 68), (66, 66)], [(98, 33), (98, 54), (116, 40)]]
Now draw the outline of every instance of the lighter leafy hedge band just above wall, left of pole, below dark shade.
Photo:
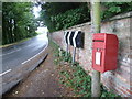
[(51, 20), (56, 24), (55, 31), (58, 31), (90, 20), (88, 18), (89, 14), (87, 13), (87, 8), (81, 7), (78, 9), (66, 11), (64, 14), (51, 16)]

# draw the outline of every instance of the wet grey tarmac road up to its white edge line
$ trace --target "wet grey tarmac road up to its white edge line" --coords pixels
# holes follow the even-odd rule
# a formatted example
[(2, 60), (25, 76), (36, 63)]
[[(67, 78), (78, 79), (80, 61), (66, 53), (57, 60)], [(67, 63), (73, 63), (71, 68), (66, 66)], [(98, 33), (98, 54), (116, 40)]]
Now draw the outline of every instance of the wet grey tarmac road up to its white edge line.
[(28, 63), (43, 51), (47, 44), (48, 40), (45, 33), (23, 43), (2, 48), (2, 54), (0, 54), (0, 58), (2, 57), (2, 73), (0, 73), (0, 76), (8, 74), (16, 66)]

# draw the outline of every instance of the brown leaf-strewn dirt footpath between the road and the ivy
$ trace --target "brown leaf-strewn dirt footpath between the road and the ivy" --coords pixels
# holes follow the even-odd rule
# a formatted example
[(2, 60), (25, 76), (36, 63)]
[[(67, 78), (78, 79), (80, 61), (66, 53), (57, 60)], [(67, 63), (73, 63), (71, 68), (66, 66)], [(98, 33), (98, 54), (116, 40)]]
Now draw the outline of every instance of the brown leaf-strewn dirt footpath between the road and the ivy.
[(70, 89), (59, 84), (58, 69), (54, 64), (53, 48), (48, 46), (47, 58), (23, 81), (3, 95), (4, 97), (73, 97)]

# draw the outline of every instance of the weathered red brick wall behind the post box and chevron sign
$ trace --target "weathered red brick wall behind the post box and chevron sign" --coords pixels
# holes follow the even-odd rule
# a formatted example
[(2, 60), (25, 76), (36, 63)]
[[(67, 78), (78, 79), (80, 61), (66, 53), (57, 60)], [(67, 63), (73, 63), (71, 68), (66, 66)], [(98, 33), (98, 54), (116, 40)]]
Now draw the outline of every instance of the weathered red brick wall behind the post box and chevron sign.
[[(131, 96), (132, 91), (130, 88), (130, 67), (132, 63), (130, 62), (132, 55), (132, 46), (130, 45), (130, 29), (131, 29), (131, 14), (132, 12), (125, 14), (119, 14), (111, 18), (109, 21), (102, 22), (101, 33), (113, 33), (119, 38), (119, 56), (118, 56), (118, 69), (106, 72), (101, 74), (101, 81), (108, 89), (114, 90), (116, 94), (119, 94), (123, 97)], [(91, 75), (91, 25), (90, 22), (79, 24), (73, 28), (69, 28), (66, 31), (76, 31), (81, 30), (85, 32), (85, 48), (79, 48), (76, 52), (76, 61), (80, 63), (85, 70), (90, 72)], [(58, 31), (51, 33), (51, 37), (63, 48), (66, 50), (66, 44), (64, 42), (64, 31)], [(70, 53), (73, 53), (73, 46), (69, 47)]]

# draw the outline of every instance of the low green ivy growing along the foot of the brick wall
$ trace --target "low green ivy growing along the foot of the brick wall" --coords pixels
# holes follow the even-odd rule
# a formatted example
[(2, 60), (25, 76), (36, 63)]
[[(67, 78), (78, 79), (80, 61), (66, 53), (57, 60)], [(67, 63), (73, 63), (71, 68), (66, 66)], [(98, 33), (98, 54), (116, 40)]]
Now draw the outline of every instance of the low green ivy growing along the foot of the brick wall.
[[(66, 56), (66, 52), (59, 53), (59, 46), (54, 42), (50, 42), (50, 45), (54, 47), (55, 59), (59, 72), (59, 82), (70, 88), (76, 97), (91, 97), (91, 77), (81, 68), (79, 63), (72, 65), (72, 55)], [(113, 92), (107, 91), (106, 87), (101, 85), (101, 97), (120, 97)]]

